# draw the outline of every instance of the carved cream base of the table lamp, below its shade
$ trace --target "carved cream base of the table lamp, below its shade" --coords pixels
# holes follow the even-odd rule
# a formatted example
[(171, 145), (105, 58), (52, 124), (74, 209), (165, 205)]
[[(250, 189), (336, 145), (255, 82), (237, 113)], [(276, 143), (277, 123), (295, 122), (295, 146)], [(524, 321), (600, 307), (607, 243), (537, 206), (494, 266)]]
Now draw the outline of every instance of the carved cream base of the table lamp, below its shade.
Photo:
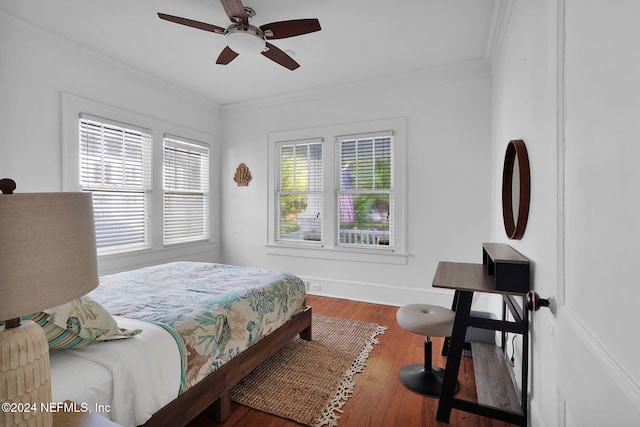
[(40, 408), (40, 403), (51, 402), (47, 336), (31, 320), (1, 328), (0, 402), (15, 405), (0, 413), (0, 425), (51, 427), (52, 413)]

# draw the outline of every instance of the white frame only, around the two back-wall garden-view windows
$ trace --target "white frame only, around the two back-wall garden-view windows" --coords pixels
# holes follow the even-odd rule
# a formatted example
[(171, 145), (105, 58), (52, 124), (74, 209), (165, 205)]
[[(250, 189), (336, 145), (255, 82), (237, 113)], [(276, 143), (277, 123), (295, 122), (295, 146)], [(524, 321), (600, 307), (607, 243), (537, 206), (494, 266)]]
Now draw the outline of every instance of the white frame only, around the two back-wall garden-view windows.
[[(370, 135), (393, 132), (393, 212), (394, 245), (340, 245), (338, 232), (338, 176), (337, 138), (349, 135)], [(268, 224), (265, 247), (270, 255), (308, 257), (317, 259), (347, 260), (356, 262), (380, 262), (388, 264), (407, 263), (406, 227), (406, 118), (389, 118), (357, 123), (329, 125), (296, 129), (268, 134), (267, 161), (269, 171)], [(323, 239), (312, 245), (276, 240), (275, 188), (277, 183), (276, 146), (284, 142), (323, 141), (324, 222)]]

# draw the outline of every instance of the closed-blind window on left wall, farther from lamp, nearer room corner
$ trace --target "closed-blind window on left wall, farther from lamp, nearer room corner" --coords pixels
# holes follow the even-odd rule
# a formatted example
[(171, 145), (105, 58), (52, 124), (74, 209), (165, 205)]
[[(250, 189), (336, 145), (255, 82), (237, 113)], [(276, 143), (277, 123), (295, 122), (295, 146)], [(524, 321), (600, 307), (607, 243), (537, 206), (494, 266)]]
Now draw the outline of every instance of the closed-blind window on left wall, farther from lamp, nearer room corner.
[(209, 239), (209, 147), (165, 135), (163, 144), (163, 241)]

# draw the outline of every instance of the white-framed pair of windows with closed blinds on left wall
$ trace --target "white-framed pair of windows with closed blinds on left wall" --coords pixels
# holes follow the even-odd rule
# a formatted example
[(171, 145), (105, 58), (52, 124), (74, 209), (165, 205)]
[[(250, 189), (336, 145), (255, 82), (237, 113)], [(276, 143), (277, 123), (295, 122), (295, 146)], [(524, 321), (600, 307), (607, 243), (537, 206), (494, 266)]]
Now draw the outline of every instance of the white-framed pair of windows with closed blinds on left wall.
[(210, 258), (217, 150), (211, 134), (62, 94), (62, 188), (91, 192), (105, 272)]

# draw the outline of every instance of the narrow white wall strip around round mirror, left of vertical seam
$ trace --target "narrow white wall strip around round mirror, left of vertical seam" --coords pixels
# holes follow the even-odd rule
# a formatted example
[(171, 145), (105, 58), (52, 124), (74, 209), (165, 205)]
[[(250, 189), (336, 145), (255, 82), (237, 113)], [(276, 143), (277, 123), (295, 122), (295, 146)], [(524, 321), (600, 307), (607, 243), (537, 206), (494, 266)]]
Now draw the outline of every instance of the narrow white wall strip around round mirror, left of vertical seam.
[[(556, 7), (553, 0), (513, 3), (513, 9), (505, 3), (509, 5), (507, 16), (501, 23), (503, 34), (500, 44), (494, 46), (499, 52), (492, 64), (492, 240), (510, 244), (532, 261), (532, 288), (546, 298), (556, 293), (557, 276)], [(515, 241), (504, 231), (501, 204), (504, 155), (513, 139), (525, 142), (531, 169), (529, 220), (523, 238)], [(554, 319), (549, 310), (542, 310), (531, 320), (532, 425), (551, 426), (557, 413), (556, 353), (549, 333)], [(515, 371), (519, 369), (518, 363)]]

